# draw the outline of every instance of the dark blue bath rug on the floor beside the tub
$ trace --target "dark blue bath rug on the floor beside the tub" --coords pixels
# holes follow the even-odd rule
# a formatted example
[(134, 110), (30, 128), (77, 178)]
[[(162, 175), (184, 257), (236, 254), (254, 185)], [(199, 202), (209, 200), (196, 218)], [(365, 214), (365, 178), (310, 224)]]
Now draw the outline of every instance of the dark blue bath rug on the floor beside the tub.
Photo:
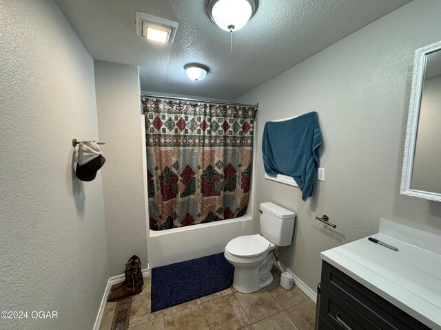
[(152, 269), (152, 312), (227, 289), (234, 267), (223, 253)]

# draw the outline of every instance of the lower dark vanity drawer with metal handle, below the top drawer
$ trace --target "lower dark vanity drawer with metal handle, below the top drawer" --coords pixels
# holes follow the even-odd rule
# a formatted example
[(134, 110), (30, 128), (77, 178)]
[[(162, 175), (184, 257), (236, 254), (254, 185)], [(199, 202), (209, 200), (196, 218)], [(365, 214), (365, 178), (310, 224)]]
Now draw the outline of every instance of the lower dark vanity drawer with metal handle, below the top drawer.
[(351, 305), (321, 285), (319, 314), (336, 330), (380, 330)]

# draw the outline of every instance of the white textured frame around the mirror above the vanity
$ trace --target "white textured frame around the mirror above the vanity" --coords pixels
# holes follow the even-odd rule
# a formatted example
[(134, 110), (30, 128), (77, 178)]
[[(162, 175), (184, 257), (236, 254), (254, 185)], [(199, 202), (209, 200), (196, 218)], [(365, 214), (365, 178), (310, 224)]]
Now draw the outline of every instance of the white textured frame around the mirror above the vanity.
[(404, 144), (404, 158), (402, 161), (402, 175), (400, 194), (413, 197), (441, 201), (441, 194), (436, 192), (411, 189), (413, 157), (415, 156), (416, 135), (418, 132), (418, 119), (420, 117), (420, 104), (424, 72), (426, 69), (427, 54), (441, 50), (441, 41), (418, 48), (413, 62), (413, 77), (411, 87), (411, 100), (409, 102), (409, 117), (407, 118), (406, 142)]

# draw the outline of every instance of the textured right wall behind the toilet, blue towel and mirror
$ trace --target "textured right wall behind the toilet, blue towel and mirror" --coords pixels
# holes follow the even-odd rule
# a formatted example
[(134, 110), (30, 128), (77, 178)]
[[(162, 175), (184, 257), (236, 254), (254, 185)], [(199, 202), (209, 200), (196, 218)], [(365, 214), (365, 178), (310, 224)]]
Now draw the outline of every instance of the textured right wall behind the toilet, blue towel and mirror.
[[(294, 244), (279, 250), (311, 289), (320, 251), (377, 232), (379, 217), (441, 234), (441, 203), (399, 193), (413, 54), (440, 40), (440, 17), (440, 1), (412, 1), (238, 99), (260, 102), (256, 203), (297, 213)], [(298, 188), (263, 178), (260, 141), (267, 120), (308, 111), (318, 112), (326, 181), (304, 203)], [(336, 230), (314, 219), (322, 214)]]

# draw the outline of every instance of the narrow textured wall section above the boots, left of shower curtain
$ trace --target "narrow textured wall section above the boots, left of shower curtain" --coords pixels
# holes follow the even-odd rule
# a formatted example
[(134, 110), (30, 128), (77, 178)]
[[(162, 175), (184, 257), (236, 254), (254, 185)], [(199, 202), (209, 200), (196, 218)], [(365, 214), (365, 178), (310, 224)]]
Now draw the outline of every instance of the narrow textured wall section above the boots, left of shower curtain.
[(99, 136), (105, 141), (103, 195), (110, 276), (132, 254), (147, 267), (143, 134), (138, 68), (95, 61)]

